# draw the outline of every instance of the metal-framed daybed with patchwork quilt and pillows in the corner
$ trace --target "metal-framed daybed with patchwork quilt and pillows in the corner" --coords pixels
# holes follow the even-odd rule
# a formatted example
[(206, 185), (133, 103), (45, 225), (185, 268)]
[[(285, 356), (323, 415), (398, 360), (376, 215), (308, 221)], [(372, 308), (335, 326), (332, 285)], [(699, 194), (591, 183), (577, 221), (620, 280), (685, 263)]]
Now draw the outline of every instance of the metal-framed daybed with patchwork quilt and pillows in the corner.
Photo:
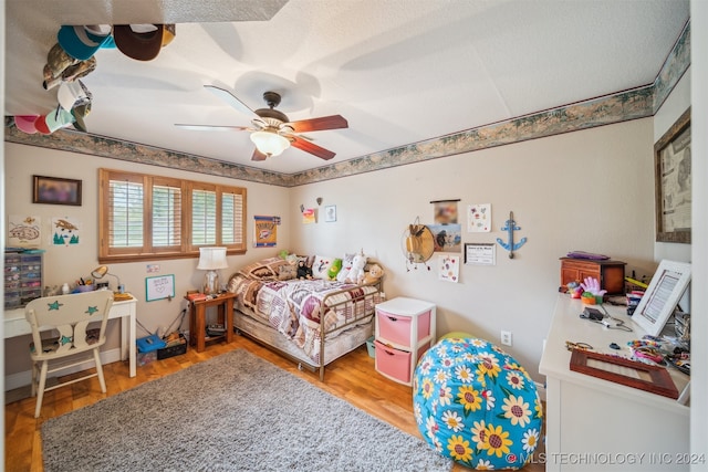
[(313, 271), (313, 279), (298, 279), (289, 265), (270, 258), (231, 275), (227, 290), (237, 295), (233, 326), (300, 368), (319, 370), (323, 380), (327, 364), (372, 336), (374, 306), (385, 301), (383, 279), (332, 281), (322, 270)]

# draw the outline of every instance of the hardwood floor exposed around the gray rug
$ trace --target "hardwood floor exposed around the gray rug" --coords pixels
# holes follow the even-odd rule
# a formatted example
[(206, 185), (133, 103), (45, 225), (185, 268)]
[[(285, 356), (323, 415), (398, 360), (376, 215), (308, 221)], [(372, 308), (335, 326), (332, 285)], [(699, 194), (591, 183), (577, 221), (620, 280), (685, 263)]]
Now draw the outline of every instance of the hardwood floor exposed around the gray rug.
[[(40, 427), (48, 418), (85, 407), (102, 398), (119, 394), (143, 382), (173, 374), (237, 348), (247, 349), (403, 431), (420, 438), (418, 427), (413, 418), (410, 388), (391, 381), (376, 373), (374, 359), (368, 356), (366, 346), (362, 346), (332, 363), (325, 371), (324, 382), (321, 382), (316, 373), (298, 370), (294, 363), (246, 337), (235, 336), (232, 343), (208, 346), (204, 353), (197, 353), (189, 348), (187, 354), (138, 367), (137, 376), (134, 378), (128, 377), (127, 363), (105, 365), (106, 394), (101, 392), (96, 378), (49, 391), (44, 395), (41, 416), (38, 419), (34, 419), (34, 398), (24, 398), (7, 405), (4, 409), (4, 470), (8, 472), (43, 471)], [(539, 455), (538, 451), (537, 455)], [(459, 464), (455, 464), (452, 469), (455, 472), (468, 470)], [(544, 466), (531, 463), (523, 470), (540, 472), (544, 470)]]

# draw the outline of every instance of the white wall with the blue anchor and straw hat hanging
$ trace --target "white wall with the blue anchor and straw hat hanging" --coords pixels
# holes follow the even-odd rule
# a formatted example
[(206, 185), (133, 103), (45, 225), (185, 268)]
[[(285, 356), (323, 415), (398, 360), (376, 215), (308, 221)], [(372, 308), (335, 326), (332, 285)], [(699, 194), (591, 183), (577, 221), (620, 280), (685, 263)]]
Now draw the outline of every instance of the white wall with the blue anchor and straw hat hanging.
[[(654, 262), (653, 120), (650, 118), (486, 149), (292, 190), (292, 251), (337, 256), (363, 249), (386, 270), (388, 297), (412, 296), (438, 306), (438, 333), (465, 331), (499, 343), (539, 381), (545, 338), (560, 285), (560, 261), (571, 250), (607, 254), (627, 271), (650, 275)], [(335, 204), (337, 221), (298, 222), (300, 204)], [(507, 240), (500, 228), (513, 211), (528, 238), (513, 260), (497, 245), (496, 266), (464, 265), (460, 283), (434, 269), (406, 271), (400, 239), (416, 217), (433, 222), (431, 200), (491, 203), (493, 232), (464, 242)], [(554, 342), (564, 342), (555, 339)], [(582, 340), (582, 339), (573, 339)]]

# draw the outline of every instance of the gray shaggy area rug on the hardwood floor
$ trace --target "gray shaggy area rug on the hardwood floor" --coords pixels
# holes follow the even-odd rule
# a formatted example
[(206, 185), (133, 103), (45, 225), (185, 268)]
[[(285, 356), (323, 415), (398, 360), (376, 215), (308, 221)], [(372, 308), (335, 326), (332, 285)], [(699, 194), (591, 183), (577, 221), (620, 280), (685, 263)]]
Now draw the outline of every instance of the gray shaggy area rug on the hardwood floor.
[(53, 471), (449, 471), (424, 441), (237, 349), (42, 424)]

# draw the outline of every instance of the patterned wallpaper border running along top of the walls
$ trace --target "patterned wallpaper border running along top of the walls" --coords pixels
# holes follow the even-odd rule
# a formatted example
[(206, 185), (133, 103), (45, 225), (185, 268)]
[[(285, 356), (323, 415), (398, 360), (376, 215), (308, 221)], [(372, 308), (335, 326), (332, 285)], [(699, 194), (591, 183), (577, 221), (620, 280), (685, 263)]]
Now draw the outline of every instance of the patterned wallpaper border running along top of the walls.
[(471, 153), (530, 139), (572, 133), (597, 126), (653, 116), (690, 66), (690, 23), (668, 55), (654, 84), (632, 91), (575, 103), (460, 133), (446, 135), (399, 148), (371, 154), (298, 174), (279, 174), (249, 166), (176, 153), (168, 149), (116, 140), (103, 136), (62, 129), (51, 135), (29, 135), (6, 117), (4, 140), (29, 146), (87, 154), (152, 166), (177, 168), (199, 174), (298, 187), (373, 170), (387, 169)]

